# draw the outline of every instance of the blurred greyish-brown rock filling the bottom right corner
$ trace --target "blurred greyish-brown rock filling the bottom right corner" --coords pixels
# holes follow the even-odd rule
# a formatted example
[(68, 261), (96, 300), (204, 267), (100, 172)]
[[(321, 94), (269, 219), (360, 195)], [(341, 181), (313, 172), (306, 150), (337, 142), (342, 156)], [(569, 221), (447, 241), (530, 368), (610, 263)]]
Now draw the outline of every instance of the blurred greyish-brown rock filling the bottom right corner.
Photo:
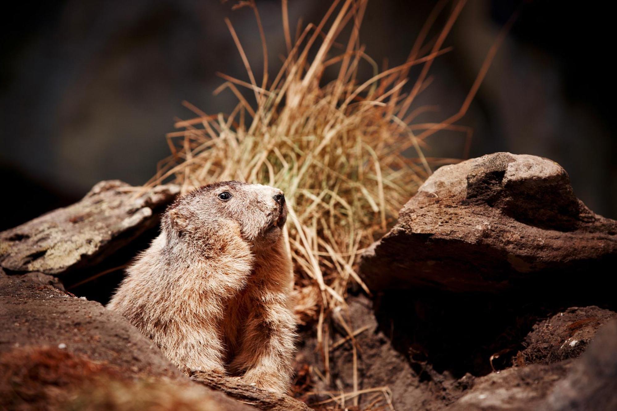
[(611, 320), (565, 379), (538, 407), (550, 411), (617, 410), (617, 320)]

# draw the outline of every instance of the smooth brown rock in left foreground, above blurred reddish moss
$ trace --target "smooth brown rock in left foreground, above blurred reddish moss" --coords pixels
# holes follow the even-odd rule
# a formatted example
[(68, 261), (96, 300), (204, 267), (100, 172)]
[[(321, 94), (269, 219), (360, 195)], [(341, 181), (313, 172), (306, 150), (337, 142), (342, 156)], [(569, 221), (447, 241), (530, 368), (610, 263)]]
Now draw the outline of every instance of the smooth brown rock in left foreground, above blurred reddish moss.
[(0, 273), (0, 352), (59, 347), (130, 375), (183, 376), (120, 315), (98, 302), (20, 277)]

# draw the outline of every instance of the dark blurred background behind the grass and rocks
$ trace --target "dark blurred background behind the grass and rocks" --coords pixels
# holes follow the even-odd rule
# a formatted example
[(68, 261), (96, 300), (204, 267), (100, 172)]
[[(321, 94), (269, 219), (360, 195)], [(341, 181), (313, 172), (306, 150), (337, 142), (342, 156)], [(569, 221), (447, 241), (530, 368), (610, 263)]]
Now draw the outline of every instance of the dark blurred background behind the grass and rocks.
[[(436, 2), (371, 0), (360, 39), (380, 65), (402, 64)], [(213, 96), (223, 72), (247, 80), (224, 18), (260, 77), (262, 50), (251, 9), (218, 0), (22, 1), (2, 13), (0, 230), (70, 204), (97, 181), (139, 185), (168, 156), (174, 118), (230, 112)], [(292, 27), (319, 22), (330, 1), (289, 0)], [(270, 65), (285, 53), (279, 0), (258, 0)], [(446, 6), (441, 23), (452, 7)], [(521, 13), (462, 121), (471, 157), (495, 151), (560, 163), (592, 210), (617, 218), (612, 15), (603, 2), (470, 0), (433, 65), (433, 83), (412, 109), (418, 121), (455, 114), (500, 28)], [(440, 27), (440, 22), (436, 23)], [(371, 68), (366, 64), (366, 76)], [(270, 70), (271, 75), (276, 72)], [(416, 72), (412, 71), (412, 80)], [(368, 78), (368, 77), (367, 77)], [(442, 131), (427, 156), (461, 158), (464, 133)]]

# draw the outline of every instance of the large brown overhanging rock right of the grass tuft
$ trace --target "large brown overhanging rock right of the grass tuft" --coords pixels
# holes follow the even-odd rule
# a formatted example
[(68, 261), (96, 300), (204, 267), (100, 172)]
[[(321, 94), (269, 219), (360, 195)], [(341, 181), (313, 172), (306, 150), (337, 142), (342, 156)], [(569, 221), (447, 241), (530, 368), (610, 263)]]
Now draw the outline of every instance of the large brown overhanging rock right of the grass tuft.
[(494, 291), (617, 263), (617, 222), (579, 201), (557, 163), (505, 152), (439, 168), (366, 251), (372, 291)]

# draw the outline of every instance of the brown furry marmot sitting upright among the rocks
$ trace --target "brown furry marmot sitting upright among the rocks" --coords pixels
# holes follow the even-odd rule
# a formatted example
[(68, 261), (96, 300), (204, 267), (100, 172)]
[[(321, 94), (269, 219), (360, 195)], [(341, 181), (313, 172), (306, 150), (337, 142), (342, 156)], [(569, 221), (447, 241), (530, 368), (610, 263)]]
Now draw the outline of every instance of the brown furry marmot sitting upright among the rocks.
[(225, 181), (176, 199), (107, 308), (186, 373), (288, 391), (296, 321), (286, 218), (283, 192), (269, 186)]

